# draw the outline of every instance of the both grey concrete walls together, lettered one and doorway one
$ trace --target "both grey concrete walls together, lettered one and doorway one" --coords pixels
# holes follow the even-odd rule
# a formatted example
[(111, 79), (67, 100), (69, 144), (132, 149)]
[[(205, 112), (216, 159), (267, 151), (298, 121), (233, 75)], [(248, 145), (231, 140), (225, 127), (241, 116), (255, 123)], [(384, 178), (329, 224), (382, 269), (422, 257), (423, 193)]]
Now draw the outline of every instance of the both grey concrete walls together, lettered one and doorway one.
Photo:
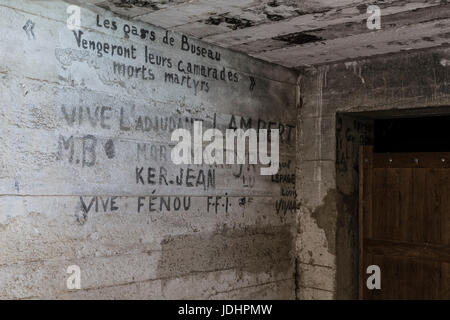
[[(356, 298), (358, 146), (449, 113), (449, 49), (297, 73), (73, 3), (0, 0), (0, 298)], [(279, 129), (279, 173), (174, 165), (195, 120)]]

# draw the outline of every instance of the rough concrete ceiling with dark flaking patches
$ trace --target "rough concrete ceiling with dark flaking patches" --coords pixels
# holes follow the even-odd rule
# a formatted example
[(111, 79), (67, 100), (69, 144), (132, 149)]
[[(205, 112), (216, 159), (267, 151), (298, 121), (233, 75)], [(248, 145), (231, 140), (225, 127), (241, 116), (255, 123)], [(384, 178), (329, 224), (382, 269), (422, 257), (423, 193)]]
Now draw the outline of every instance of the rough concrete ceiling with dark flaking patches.
[[(287, 67), (448, 45), (448, 0), (85, 0)], [(381, 30), (366, 26), (381, 8)]]

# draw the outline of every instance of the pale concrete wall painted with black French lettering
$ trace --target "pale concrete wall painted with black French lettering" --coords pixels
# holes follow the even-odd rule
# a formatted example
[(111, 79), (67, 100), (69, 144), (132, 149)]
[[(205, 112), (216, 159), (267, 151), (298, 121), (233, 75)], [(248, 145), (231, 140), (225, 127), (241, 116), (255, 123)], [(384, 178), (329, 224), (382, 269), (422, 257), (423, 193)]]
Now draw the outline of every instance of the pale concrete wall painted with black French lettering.
[[(297, 74), (67, 6), (0, 0), (0, 298), (294, 298)], [(174, 165), (194, 119), (280, 128), (279, 175)]]

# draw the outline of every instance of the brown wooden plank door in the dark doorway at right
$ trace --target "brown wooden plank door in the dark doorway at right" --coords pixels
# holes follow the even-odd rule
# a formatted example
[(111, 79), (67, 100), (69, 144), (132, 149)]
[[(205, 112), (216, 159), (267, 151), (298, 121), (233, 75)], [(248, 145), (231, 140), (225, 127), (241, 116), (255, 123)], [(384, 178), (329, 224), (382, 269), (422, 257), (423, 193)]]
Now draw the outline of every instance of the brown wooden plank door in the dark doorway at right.
[(450, 299), (450, 153), (361, 147), (359, 189), (360, 298)]

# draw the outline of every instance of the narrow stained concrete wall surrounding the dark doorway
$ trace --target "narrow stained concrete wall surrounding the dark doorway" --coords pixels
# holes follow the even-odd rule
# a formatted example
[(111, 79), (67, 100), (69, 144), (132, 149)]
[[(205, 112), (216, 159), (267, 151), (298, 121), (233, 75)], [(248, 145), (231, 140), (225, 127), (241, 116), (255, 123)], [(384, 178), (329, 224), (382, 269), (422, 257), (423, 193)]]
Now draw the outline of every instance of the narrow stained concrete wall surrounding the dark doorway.
[(305, 69), (300, 92), (298, 296), (357, 298), (358, 146), (371, 118), (448, 112), (450, 49)]

